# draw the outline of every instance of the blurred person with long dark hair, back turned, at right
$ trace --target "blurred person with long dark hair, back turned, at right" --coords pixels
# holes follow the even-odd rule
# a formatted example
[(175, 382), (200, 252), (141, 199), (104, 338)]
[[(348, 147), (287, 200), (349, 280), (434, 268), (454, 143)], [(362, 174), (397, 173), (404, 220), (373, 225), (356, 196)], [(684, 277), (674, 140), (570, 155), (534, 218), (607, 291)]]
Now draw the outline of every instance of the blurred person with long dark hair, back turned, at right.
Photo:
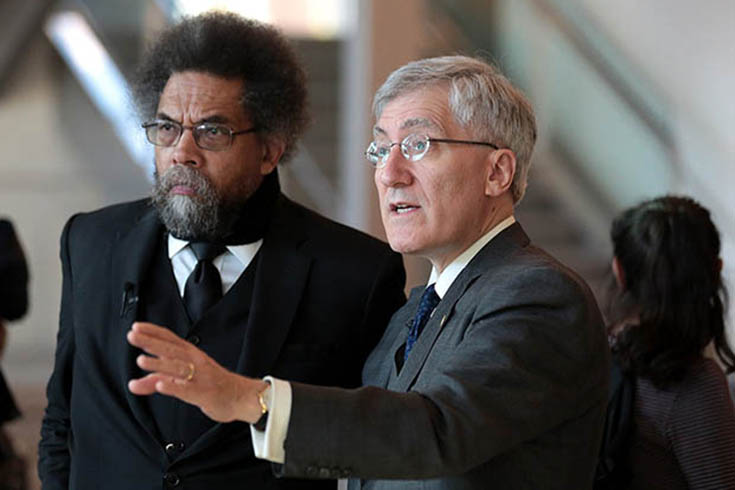
[(728, 372), (720, 235), (687, 197), (623, 212), (612, 225), (611, 342), (635, 379), (627, 461), (631, 489), (735, 489), (735, 412)]

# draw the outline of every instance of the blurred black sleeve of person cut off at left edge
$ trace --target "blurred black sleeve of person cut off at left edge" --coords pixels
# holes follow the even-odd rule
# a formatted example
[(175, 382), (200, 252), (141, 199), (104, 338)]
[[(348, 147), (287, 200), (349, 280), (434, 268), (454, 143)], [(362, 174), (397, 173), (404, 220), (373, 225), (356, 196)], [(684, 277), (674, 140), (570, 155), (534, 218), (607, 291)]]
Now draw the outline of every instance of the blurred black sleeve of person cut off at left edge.
[(17, 320), (28, 310), (28, 265), (9, 221), (0, 220), (0, 319)]

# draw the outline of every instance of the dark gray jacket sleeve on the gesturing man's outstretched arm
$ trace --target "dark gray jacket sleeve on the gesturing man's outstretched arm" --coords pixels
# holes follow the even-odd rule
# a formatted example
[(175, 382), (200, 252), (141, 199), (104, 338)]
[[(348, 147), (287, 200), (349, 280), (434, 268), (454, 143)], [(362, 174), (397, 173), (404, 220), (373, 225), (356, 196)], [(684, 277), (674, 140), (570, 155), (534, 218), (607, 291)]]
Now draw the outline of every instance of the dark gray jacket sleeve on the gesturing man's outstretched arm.
[(601, 421), (608, 366), (594, 301), (564, 277), (516, 279), (502, 298), (475, 291), (457, 307), (442, 330), (453, 340), (435, 345), (408, 392), (292, 383), (280, 474), (460, 475), (588, 411)]

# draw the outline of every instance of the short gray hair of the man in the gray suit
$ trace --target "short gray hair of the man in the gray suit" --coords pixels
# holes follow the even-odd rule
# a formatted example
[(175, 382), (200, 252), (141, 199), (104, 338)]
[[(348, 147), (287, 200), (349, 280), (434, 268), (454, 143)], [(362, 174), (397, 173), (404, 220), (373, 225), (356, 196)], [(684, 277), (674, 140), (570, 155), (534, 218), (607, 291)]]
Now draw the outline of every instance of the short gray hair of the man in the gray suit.
[(513, 202), (523, 198), (536, 142), (536, 118), (523, 93), (490, 63), (468, 56), (442, 56), (408, 63), (391, 73), (375, 93), (375, 119), (393, 99), (431, 85), (449, 85), (449, 109), (474, 138), (510, 148), (516, 156)]

